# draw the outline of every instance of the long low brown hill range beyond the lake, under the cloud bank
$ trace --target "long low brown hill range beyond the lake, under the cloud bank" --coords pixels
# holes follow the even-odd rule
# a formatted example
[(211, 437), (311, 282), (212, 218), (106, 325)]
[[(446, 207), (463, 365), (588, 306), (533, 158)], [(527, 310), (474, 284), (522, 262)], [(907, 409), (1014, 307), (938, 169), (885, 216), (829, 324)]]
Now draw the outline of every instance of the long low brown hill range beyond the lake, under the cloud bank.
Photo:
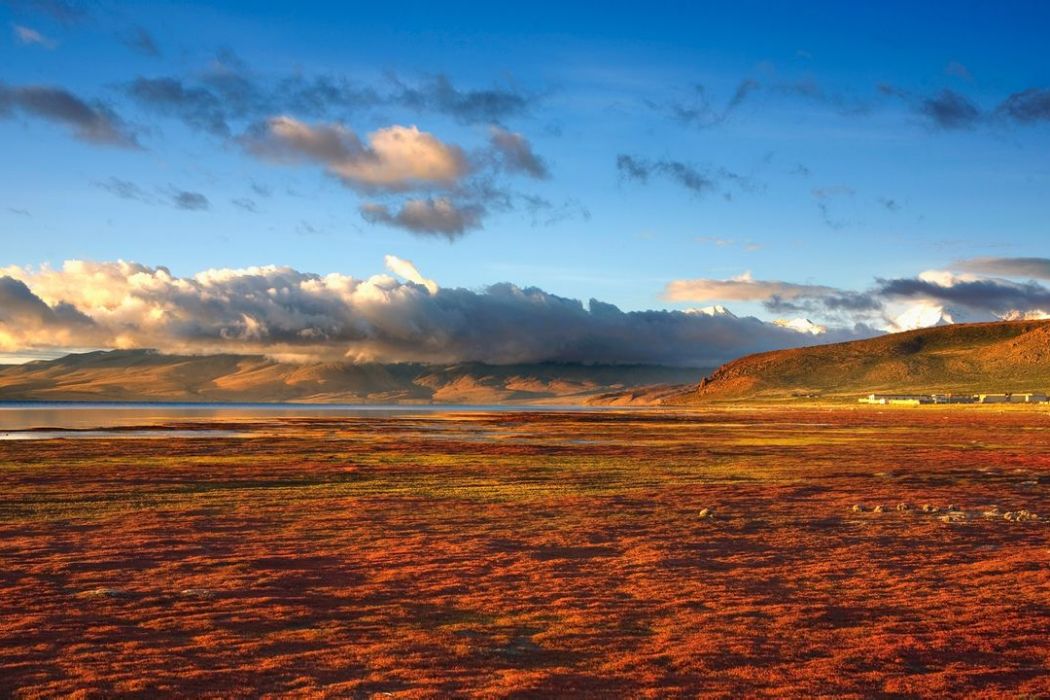
[[(291, 364), (151, 351), (0, 365), (0, 401), (645, 404), (699, 368), (651, 365)], [(635, 390), (646, 387), (645, 390)]]

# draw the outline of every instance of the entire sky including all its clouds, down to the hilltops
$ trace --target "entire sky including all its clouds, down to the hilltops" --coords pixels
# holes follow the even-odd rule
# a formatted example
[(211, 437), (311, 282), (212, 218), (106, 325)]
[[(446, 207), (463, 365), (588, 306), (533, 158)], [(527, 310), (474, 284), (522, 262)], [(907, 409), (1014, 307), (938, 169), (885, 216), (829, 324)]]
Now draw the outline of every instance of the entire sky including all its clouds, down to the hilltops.
[(478, 5), (0, 0), (0, 360), (706, 365), (1050, 312), (1047, 3)]

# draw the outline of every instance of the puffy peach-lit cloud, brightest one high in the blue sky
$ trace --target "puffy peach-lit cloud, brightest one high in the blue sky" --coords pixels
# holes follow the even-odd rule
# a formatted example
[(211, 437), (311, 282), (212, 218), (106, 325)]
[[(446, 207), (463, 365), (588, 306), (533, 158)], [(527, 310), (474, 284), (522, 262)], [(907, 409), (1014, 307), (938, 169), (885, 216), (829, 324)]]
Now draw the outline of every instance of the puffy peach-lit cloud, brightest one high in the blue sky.
[(311, 126), (275, 116), (247, 136), (245, 145), (260, 157), (322, 164), (348, 187), (366, 192), (450, 186), (469, 171), (462, 149), (415, 126), (378, 129), (363, 143), (339, 124)]

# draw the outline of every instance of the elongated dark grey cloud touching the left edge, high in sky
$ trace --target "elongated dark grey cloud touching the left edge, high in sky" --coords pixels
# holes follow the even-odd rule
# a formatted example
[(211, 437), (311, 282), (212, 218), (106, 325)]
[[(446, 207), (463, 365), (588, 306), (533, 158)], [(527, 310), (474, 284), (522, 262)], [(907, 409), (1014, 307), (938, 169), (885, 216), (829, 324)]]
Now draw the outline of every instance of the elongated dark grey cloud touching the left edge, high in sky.
[(89, 104), (59, 87), (0, 83), (0, 118), (16, 111), (62, 124), (74, 137), (89, 144), (139, 148), (134, 134), (109, 107), (99, 102)]

